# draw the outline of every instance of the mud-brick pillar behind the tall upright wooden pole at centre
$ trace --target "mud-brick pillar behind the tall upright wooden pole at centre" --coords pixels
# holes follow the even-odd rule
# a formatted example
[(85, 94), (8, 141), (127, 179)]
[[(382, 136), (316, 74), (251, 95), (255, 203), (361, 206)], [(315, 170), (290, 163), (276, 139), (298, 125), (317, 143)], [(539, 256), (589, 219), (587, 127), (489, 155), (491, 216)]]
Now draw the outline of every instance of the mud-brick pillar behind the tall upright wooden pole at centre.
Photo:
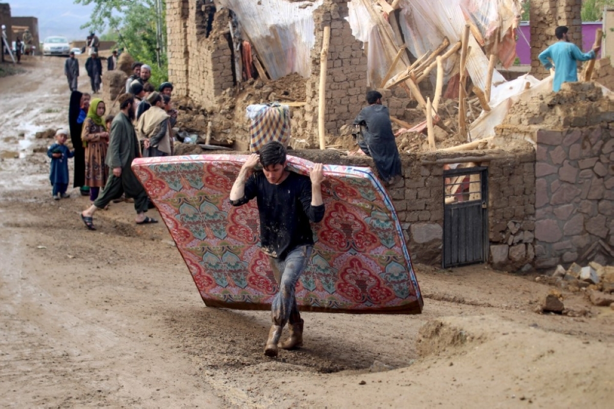
[(305, 139), (306, 146), (317, 146), (319, 104), (320, 52), (324, 26), (330, 26), (330, 46), (326, 79), (325, 129), (327, 134), (338, 134), (339, 128), (358, 115), (367, 104), (367, 56), (363, 44), (352, 36), (348, 21), (348, 3), (345, 0), (325, 0), (314, 10), (316, 43), (311, 50), (311, 77), (306, 83), (306, 106), (292, 135)]

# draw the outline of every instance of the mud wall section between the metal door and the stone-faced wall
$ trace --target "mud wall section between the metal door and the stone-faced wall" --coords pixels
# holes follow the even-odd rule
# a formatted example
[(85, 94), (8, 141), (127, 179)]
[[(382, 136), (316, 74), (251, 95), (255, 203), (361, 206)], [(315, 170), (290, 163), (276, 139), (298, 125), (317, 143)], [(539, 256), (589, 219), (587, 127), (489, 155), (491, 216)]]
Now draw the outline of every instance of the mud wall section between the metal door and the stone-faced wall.
[(535, 258), (535, 153), (488, 166), (489, 262), (500, 270), (529, 269)]

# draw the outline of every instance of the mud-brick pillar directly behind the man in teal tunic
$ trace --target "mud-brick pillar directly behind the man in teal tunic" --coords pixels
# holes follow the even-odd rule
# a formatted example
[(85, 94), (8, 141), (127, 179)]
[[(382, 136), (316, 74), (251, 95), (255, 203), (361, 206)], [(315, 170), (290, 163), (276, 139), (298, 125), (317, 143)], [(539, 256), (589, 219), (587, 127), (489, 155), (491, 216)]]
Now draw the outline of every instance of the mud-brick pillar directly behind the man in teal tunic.
[(582, 0), (531, 0), (530, 2), (530, 46), (531, 46), (531, 74), (542, 79), (548, 75), (543, 68), (538, 55), (548, 45), (558, 41), (554, 36), (554, 29), (558, 26), (567, 26), (570, 41), (582, 47)]

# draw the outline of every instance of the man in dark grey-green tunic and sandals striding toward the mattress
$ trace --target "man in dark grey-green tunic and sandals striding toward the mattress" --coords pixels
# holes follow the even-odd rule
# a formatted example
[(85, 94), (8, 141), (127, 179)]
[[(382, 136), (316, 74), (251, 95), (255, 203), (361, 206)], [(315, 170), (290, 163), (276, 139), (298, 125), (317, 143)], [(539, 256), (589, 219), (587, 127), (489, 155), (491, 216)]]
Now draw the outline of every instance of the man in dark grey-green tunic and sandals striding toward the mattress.
[(122, 94), (119, 97), (120, 113), (115, 116), (111, 125), (111, 141), (107, 152), (106, 163), (113, 173), (104, 186), (98, 199), (90, 208), (81, 213), (81, 220), (90, 230), (96, 230), (92, 217), (98, 209), (104, 209), (113, 199), (126, 196), (134, 198), (136, 224), (157, 223), (158, 220), (145, 216), (147, 211), (147, 193), (132, 170), (132, 161), (141, 156), (139, 141), (136, 139), (132, 120), (134, 119), (134, 96)]

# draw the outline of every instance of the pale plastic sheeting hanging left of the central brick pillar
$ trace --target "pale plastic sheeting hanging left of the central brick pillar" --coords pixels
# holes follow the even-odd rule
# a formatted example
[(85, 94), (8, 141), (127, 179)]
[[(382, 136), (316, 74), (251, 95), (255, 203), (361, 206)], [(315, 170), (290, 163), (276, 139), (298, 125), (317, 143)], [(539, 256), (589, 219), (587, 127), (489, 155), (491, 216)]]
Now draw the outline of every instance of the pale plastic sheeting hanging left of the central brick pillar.
[[(217, 0), (232, 10), (246, 40), (252, 43), (271, 79), (298, 72), (311, 74), (311, 49), (316, 42), (313, 10), (322, 0)], [(300, 8), (308, 4), (308, 7)]]

